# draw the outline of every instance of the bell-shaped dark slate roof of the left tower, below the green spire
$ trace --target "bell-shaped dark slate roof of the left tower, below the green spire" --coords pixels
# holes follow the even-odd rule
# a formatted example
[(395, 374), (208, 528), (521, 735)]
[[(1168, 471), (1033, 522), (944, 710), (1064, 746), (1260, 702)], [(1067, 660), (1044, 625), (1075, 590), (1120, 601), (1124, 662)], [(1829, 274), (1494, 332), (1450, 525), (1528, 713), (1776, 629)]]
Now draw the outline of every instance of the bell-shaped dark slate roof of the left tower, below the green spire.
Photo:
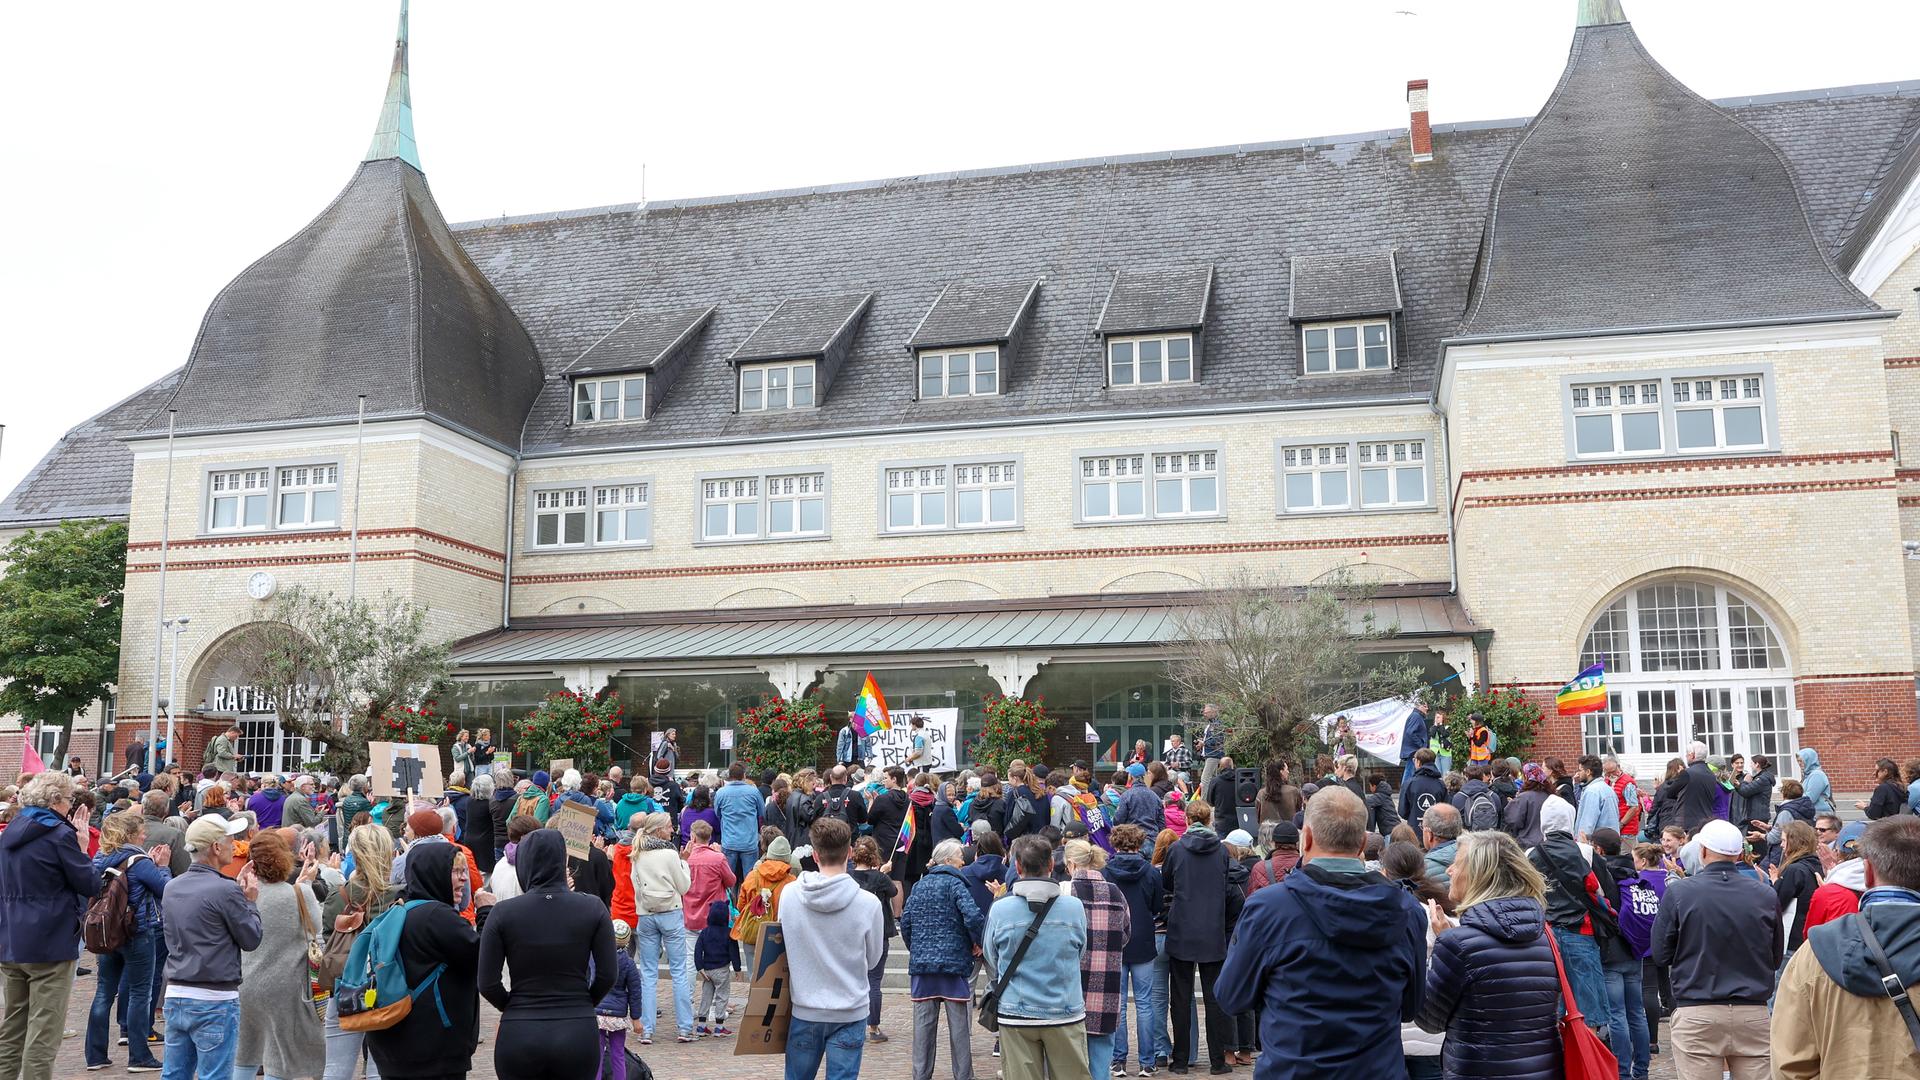
[(215, 296), (173, 407), (180, 430), (232, 430), (351, 419), (367, 394), (369, 417), (430, 415), (515, 448), (541, 379), (532, 338), (426, 177), (390, 158), (361, 163), (319, 217)]

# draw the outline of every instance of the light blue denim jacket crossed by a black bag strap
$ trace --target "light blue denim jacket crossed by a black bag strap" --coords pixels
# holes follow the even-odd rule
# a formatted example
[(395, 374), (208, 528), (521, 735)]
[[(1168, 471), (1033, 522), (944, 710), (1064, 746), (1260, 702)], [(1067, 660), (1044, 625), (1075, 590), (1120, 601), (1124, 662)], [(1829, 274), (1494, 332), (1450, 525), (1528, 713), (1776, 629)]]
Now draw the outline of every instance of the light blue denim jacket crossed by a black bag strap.
[[(1020, 947), (1033, 924), (1037, 905), (1060, 896), (1050, 878), (1027, 878), (993, 901), (987, 913), (987, 965), (998, 972)], [(1087, 909), (1071, 896), (1060, 896), (1041, 934), (1000, 995), (1000, 1020), (1010, 1024), (1071, 1024), (1087, 1017), (1081, 994), (1081, 953), (1087, 951)]]

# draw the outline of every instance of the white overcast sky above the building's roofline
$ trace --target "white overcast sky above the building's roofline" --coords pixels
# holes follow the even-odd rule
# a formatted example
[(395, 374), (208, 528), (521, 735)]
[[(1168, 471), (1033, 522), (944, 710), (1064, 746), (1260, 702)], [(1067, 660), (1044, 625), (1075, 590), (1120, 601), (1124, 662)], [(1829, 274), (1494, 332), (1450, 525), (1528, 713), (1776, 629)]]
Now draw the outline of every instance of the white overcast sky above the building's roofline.
[[(1534, 113), (1576, 0), (415, 0), (449, 221)], [(1626, 0), (1707, 96), (1920, 79), (1912, 0)], [(367, 150), (397, 0), (0, 4), (0, 492)]]

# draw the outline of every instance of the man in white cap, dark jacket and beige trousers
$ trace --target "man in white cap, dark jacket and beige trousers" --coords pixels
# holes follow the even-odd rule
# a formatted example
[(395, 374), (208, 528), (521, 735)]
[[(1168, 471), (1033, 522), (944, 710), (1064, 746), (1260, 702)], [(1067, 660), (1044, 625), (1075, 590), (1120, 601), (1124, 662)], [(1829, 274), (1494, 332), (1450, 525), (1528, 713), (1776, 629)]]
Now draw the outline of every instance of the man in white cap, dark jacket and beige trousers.
[(1667, 884), (1653, 920), (1655, 965), (1672, 967), (1670, 1043), (1680, 1080), (1764, 1080), (1766, 999), (1786, 944), (1774, 890), (1740, 872), (1745, 838), (1726, 821), (1693, 836), (1699, 872)]

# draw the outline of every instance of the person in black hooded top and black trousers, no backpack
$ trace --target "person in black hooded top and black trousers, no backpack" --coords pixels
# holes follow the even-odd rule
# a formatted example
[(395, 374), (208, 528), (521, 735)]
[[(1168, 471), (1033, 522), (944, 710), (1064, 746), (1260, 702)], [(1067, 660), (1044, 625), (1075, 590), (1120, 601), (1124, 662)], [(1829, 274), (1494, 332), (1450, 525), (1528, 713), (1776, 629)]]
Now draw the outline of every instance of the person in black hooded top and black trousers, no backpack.
[(534, 832), (518, 855), (526, 892), (499, 901), (480, 934), (480, 994), (501, 1013), (493, 1070), (591, 1076), (599, 1067), (593, 1005), (618, 972), (612, 917), (599, 899), (566, 886), (566, 838), (559, 832)]

